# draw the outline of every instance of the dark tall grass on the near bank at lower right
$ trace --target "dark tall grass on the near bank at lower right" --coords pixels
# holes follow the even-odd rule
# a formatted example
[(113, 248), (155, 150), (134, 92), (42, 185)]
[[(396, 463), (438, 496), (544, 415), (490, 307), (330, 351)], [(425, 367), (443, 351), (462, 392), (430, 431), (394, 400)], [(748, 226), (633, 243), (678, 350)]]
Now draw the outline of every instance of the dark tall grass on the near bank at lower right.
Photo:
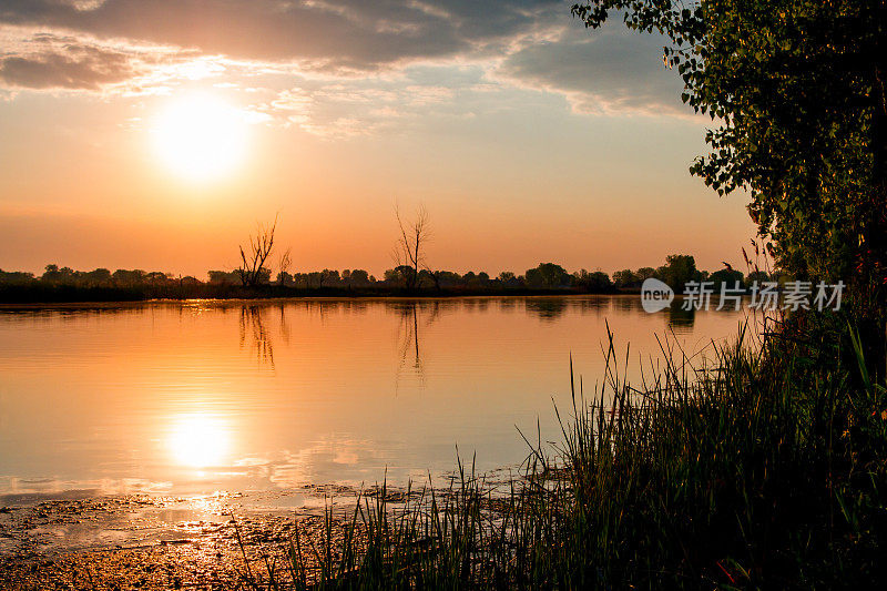
[[(634, 388), (612, 335), (605, 379), (558, 409), (502, 490), (462, 463), (450, 487), (386, 487), (296, 536), (285, 577), (245, 588), (812, 588), (887, 583), (885, 390), (852, 329), (746, 333)], [(677, 353), (679, 355), (674, 355)], [(855, 359), (857, 368), (842, 359)], [(620, 371), (622, 373), (620, 375)]]

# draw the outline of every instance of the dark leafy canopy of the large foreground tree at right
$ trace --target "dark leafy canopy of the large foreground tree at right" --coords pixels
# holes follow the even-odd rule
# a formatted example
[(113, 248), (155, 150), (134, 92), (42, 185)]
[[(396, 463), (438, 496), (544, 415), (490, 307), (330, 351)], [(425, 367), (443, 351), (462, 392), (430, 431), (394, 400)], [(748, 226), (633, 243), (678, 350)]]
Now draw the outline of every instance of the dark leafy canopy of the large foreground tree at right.
[(885, 1), (592, 0), (574, 16), (659, 31), (682, 99), (717, 126), (693, 174), (745, 190), (779, 266), (845, 279), (883, 308)]

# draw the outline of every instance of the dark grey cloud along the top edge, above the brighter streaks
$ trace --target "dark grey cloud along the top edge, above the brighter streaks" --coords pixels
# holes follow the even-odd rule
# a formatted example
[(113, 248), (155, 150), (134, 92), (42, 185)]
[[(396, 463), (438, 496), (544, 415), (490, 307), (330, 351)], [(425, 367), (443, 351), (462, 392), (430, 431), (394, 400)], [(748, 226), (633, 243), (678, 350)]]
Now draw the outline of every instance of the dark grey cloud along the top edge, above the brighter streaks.
[(6, 0), (0, 8), (7, 24), (357, 70), (490, 51), (558, 17), (569, 19), (561, 0)]

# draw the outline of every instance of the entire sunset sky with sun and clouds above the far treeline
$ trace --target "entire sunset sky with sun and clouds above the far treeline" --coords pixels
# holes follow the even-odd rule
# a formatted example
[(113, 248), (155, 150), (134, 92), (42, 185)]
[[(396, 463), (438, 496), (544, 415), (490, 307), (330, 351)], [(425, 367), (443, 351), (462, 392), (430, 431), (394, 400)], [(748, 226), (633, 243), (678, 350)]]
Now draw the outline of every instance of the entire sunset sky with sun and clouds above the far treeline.
[(569, 7), (4, 2), (0, 268), (204, 278), (279, 212), (294, 271), (378, 275), (395, 203), (437, 268), (741, 268), (746, 198), (690, 176), (712, 123), (662, 41)]

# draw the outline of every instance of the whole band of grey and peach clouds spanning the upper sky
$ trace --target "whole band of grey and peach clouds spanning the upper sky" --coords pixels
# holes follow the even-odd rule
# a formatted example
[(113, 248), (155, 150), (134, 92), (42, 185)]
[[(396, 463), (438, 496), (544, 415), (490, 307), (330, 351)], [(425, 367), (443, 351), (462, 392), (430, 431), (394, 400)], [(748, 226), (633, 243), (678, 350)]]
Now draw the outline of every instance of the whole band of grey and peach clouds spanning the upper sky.
[(214, 78), (218, 89), (251, 93), (256, 121), (326, 136), (428, 113), (473, 116), (496, 102), (479, 94), (506, 102), (526, 90), (562, 94), (581, 113), (687, 113), (660, 39), (620, 23), (585, 31), (569, 6), (4, 0), (0, 99), (4, 88), (163, 94)]

